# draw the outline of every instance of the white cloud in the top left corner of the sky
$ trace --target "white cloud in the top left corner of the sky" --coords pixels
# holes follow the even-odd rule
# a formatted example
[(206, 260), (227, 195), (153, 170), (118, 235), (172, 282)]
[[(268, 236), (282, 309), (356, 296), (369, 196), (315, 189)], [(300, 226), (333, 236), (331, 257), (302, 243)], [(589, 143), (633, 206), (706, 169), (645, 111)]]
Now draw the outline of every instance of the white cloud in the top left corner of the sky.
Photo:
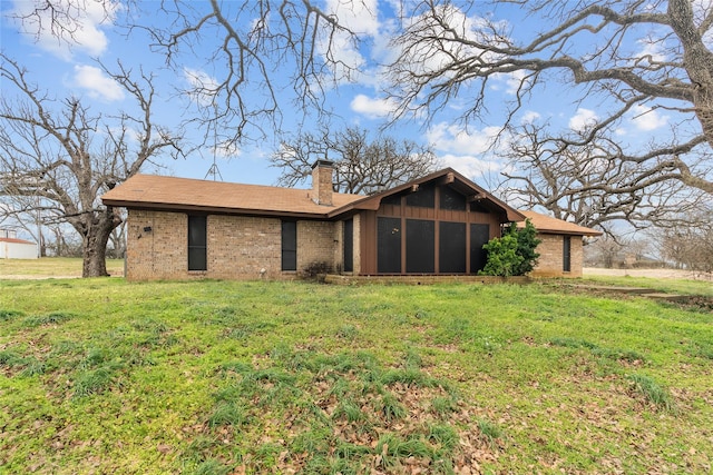
[[(39, 9), (35, 1), (16, 0), (12, 14), (25, 18), (21, 22), (16, 21), (21, 33), (67, 61), (71, 59), (74, 50), (100, 56), (109, 44), (100, 28), (114, 21), (120, 4), (114, 1), (87, 1), (78, 9), (72, 3), (70, 0), (56, 0), (52, 10)], [(57, 14), (58, 11), (68, 14)]]

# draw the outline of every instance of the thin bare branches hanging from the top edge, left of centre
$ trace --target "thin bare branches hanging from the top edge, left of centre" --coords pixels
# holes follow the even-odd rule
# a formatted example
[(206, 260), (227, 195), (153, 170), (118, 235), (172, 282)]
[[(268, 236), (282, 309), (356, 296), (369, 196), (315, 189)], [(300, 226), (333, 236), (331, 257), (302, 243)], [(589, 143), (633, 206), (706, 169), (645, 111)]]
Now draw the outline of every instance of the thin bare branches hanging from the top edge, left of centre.
[[(154, 49), (176, 69), (194, 46), (217, 38), (205, 62), (211, 80), (194, 81), (186, 92), (199, 98), (201, 123), (219, 121), (221, 128), (229, 128), (229, 145), (255, 131), (265, 135), (265, 123), (280, 130), (285, 110), (293, 117), (295, 111), (325, 112), (324, 91), (355, 68), (342, 59), (336, 39), (355, 47), (356, 33), (310, 0), (164, 0), (162, 12), (168, 27), (144, 28)], [(294, 103), (281, 99), (286, 88), (293, 90)]]

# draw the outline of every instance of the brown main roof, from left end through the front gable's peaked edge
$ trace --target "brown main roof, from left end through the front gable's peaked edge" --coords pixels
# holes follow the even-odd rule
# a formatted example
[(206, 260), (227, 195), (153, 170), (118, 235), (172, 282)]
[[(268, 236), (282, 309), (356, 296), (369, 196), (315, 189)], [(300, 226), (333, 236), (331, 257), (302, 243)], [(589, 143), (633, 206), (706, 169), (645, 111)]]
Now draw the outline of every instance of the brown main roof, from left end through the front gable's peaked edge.
[(427, 175), (372, 196), (335, 192), (333, 206), (318, 205), (306, 189), (231, 184), (156, 175), (135, 175), (101, 197), (107, 206), (196, 212), (224, 212), (303, 218), (335, 218), (354, 210), (377, 210), (381, 200), (438, 180), (459, 192), (502, 211), (509, 221), (525, 216), (451, 168)]

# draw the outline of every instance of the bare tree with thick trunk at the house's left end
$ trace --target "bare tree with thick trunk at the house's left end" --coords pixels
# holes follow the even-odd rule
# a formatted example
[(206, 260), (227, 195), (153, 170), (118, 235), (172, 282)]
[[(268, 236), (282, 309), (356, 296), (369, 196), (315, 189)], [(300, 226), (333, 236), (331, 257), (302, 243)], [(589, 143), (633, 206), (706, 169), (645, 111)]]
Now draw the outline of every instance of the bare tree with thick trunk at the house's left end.
[[(45, 222), (71, 225), (82, 239), (82, 276), (106, 276), (107, 240), (121, 216), (99, 197), (158, 154), (182, 154), (180, 136), (153, 122), (150, 76), (135, 80), (120, 65), (116, 73), (105, 68), (137, 109), (104, 116), (76, 98), (53, 100), (18, 62), (0, 58), (7, 85), (0, 101), (0, 196), (14, 205), (12, 212), (39, 211)], [(17, 101), (9, 99), (10, 87)]]

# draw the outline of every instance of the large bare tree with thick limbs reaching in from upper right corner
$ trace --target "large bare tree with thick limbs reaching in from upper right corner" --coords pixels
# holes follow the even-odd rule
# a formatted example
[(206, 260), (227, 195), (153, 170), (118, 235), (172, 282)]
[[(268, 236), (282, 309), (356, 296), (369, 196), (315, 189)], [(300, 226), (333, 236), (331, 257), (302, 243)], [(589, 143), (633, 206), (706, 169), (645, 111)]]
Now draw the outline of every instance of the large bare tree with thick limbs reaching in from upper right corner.
[(507, 108), (508, 125), (529, 96), (564, 81), (579, 99), (598, 96), (597, 112), (607, 113), (586, 133), (559, 137), (564, 144), (585, 147), (597, 137), (611, 139), (632, 117), (665, 110), (677, 120), (674, 138), (653, 137), (639, 150), (612, 149), (608, 158), (636, 162), (638, 172), (647, 169), (651, 178), (675, 174), (687, 186), (713, 194), (713, 3), (492, 3), (519, 6), (539, 29), (517, 40), (512, 23), (476, 17), (470, 9), (480, 3), (466, 1), (422, 0), (404, 14), (403, 31), (392, 43), (399, 55), (389, 68), (398, 117), (433, 113), (461, 97), (468, 100), (461, 120), (482, 119), (490, 86), (507, 77), (516, 83), (515, 99), (497, 107)]

